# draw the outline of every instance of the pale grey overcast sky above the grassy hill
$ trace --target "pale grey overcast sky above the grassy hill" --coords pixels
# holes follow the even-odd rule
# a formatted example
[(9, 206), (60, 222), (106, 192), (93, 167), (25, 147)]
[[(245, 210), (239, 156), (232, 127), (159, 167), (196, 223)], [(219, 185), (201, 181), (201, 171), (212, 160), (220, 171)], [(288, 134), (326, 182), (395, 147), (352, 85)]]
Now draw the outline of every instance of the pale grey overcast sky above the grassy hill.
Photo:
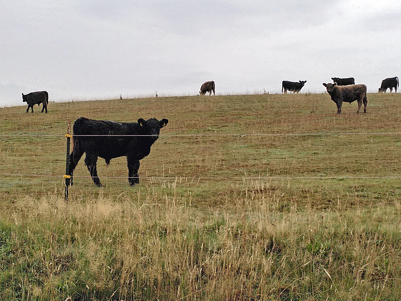
[(354, 77), (376, 92), (401, 77), (401, 2), (390, 0), (0, 0), (0, 106), (50, 101), (281, 92)]

